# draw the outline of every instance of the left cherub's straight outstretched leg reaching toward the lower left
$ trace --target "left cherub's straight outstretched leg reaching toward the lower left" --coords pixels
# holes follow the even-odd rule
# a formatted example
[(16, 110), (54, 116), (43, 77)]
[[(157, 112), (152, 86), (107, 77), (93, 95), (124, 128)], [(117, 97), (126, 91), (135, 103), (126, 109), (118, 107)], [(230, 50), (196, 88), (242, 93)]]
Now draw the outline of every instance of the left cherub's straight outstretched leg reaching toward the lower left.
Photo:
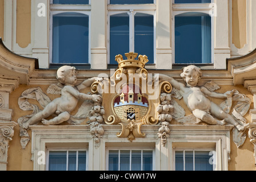
[(43, 118), (49, 117), (51, 114), (55, 113), (57, 105), (54, 102), (50, 102), (45, 109), (39, 111), (37, 114), (33, 115), (29, 120), (22, 124), (23, 129), (28, 129), (29, 125), (35, 125), (42, 121)]

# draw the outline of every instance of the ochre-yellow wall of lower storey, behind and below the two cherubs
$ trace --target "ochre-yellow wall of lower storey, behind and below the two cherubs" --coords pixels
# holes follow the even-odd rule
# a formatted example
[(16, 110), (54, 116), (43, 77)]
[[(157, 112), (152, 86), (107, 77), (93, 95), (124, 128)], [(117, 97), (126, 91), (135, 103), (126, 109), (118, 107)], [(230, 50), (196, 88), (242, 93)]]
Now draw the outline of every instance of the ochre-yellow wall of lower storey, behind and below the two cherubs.
[[(28, 88), (33, 88), (36, 86), (40, 86), (44, 93), (46, 93), (46, 90), (49, 85), (33, 85), (33, 86), (27, 86), (27, 85), (20, 85), (18, 89), (14, 90), (10, 94), (10, 109), (13, 109), (13, 118), (12, 120), (17, 122), (19, 117), (22, 117), (27, 114), (31, 114), (31, 111), (23, 111), (19, 109), (18, 106), (18, 98), (21, 96), (22, 92)], [(251, 93), (244, 88), (242, 85), (238, 86), (231, 86), (231, 85), (221, 85), (221, 89), (218, 90), (219, 93), (224, 93), (227, 90), (237, 89), (240, 93), (246, 94), (247, 97), (253, 98)], [(86, 90), (89, 91), (89, 90)], [(87, 92), (85, 92), (87, 93)], [(53, 100), (55, 97), (53, 94), (47, 94), (51, 100)], [(105, 101), (106, 103), (111, 103), (109, 101), (110, 97), (107, 97)], [(214, 101), (216, 104), (220, 104), (223, 100), (222, 99), (214, 99), (210, 98), (212, 101)], [(30, 100), (30, 102), (33, 102)], [(181, 101), (180, 105), (186, 110), (186, 115), (191, 114), (190, 111), (187, 109), (186, 106), (184, 106)], [(34, 102), (36, 104), (37, 101)], [(251, 105), (251, 108), (253, 109), (253, 104)], [(110, 112), (110, 107), (105, 107), (106, 113)], [(233, 109), (232, 109), (233, 110)], [(247, 121), (250, 121), (250, 115), (247, 113), (245, 115), (245, 118)], [(203, 124), (203, 123), (202, 123)], [(67, 125), (67, 123), (63, 123), (63, 125)], [(31, 136), (31, 130), (29, 130), (29, 135)], [(249, 138), (246, 139), (245, 143), (241, 148), (237, 148), (235, 143), (233, 142), (232, 136), (233, 133), (231, 132), (231, 152), (230, 152), (230, 162), (229, 162), (229, 170), (247, 170), (247, 171), (255, 171), (254, 167), (254, 150), (253, 150), (253, 144), (250, 142)], [(14, 127), (14, 136), (13, 140), (9, 143), (9, 151), (8, 151), (8, 165), (7, 170), (9, 171), (31, 171), (33, 170), (33, 162), (31, 161), (31, 140), (27, 144), (27, 147), (25, 150), (21, 148), (20, 137), (19, 137), (19, 126)]]

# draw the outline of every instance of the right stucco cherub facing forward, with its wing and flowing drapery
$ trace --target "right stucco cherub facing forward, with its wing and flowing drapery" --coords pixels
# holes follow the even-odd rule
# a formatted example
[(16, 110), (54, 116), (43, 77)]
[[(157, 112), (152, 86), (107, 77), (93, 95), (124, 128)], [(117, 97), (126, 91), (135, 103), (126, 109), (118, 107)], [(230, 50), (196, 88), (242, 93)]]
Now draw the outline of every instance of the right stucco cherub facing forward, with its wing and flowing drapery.
[[(184, 79), (185, 84), (178, 82), (172, 77), (166, 75), (159, 75), (160, 79), (169, 81), (171, 85), (178, 90), (179, 94), (183, 97), (183, 101), (193, 113), (192, 115), (178, 118), (177, 121), (183, 124), (195, 124), (201, 121), (210, 125), (225, 125), (226, 123), (234, 125), (234, 129), (238, 132), (234, 137), (235, 141), (239, 141), (239, 146), (245, 140), (246, 119), (243, 115), (247, 113), (250, 108), (251, 100), (245, 94), (239, 93), (237, 90), (230, 90), (225, 93), (217, 93), (215, 90), (219, 86), (213, 81), (207, 82), (203, 86), (198, 86), (198, 82), (202, 77), (201, 69), (190, 65), (183, 68), (181, 77)], [(207, 96), (214, 98), (226, 98), (220, 105), (210, 101)], [(237, 101), (234, 110), (231, 114), (231, 106), (233, 102)]]

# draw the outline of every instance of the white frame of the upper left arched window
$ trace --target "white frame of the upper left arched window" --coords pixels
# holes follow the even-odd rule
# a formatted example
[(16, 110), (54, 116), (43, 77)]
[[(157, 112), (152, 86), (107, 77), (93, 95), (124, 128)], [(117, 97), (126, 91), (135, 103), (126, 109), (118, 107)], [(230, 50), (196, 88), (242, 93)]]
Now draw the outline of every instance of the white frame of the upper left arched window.
[[(53, 15), (61, 13), (79, 13), (89, 16), (89, 42), (88, 42), (88, 64), (91, 64), (91, 0), (89, 5), (56, 5), (50, 0), (50, 35), (49, 35), (49, 63), (52, 64), (53, 58)], [(53, 63), (55, 64), (55, 63)], [(56, 63), (57, 64), (57, 63)], [(86, 64), (86, 63), (69, 63), (69, 64)]]

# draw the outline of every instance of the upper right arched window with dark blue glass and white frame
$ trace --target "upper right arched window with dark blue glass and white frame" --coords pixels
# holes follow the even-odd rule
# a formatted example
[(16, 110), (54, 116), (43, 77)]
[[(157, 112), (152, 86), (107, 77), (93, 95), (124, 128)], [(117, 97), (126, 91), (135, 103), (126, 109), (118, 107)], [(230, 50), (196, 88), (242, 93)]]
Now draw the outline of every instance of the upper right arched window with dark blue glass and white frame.
[(173, 1), (173, 59), (175, 64), (214, 61), (214, 13), (211, 0)]

